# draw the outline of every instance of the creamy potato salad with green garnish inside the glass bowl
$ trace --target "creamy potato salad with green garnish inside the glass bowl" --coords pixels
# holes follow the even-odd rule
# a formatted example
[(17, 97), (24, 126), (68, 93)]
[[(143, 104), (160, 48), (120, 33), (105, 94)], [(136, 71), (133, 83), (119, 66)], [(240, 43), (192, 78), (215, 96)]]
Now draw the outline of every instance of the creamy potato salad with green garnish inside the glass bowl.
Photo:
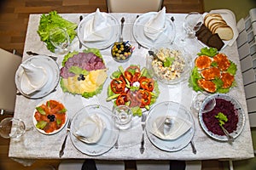
[(152, 61), (155, 75), (167, 81), (181, 77), (184, 66), (185, 60), (182, 57), (182, 53), (169, 48), (160, 48), (155, 53)]

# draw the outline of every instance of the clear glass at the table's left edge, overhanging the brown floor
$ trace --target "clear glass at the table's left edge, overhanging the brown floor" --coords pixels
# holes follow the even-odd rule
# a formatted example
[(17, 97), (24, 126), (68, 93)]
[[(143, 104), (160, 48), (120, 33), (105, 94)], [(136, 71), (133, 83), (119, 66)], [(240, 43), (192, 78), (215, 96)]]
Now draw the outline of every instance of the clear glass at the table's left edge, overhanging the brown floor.
[(4, 118), (0, 122), (0, 136), (6, 139), (18, 139), (26, 132), (25, 123), (14, 117)]

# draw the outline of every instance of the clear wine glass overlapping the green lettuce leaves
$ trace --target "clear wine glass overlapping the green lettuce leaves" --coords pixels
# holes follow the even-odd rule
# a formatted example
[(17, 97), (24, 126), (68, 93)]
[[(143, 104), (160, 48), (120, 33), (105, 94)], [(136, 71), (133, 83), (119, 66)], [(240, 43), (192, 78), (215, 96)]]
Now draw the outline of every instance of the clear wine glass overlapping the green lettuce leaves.
[(67, 52), (70, 45), (69, 35), (65, 29), (56, 27), (49, 31), (49, 42), (61, 52)]

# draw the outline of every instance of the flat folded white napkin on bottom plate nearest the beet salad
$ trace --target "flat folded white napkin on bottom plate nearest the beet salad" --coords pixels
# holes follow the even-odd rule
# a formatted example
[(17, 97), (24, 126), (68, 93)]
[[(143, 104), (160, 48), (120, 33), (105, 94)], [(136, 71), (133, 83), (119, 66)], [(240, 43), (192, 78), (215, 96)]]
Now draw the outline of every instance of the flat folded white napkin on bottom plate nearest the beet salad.
[(165, 125), (166, 116), (157, 117), (151, 129), (150, 133), (153, 133), (156, 137), (165, 140), (174, 140), (179, 138), (191, 128), (191, 122), (183, 120), (177, 116), (169, 116), (171, 118), (172, 125), (168, 127)]

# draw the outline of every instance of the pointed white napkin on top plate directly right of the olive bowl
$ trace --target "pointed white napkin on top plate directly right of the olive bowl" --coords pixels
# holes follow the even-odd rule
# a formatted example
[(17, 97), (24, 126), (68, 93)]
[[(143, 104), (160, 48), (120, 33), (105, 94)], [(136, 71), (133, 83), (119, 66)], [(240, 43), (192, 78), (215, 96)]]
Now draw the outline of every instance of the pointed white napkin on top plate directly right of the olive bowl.
[(144, 26), (144, 34), (153, 41), (166, 30), (166, 7), (163, 7)]

